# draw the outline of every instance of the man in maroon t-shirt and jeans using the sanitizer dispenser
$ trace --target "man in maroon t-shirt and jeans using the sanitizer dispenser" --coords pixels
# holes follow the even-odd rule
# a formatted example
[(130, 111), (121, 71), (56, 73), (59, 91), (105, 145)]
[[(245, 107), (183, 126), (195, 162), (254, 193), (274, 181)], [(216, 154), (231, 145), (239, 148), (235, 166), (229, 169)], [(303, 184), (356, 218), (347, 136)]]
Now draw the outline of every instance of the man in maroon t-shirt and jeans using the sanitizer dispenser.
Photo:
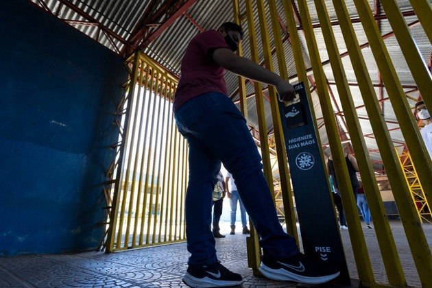
[(280, 226), (265, 180), (261, 155), (246, 120), (228, 97), (224, 71), (273, 85), (281, 101), (296, 93), (291, 84), (234, 51), (243, 37), (235, 23), (194, 36), (182, 59), (173, 112), (189, 145), (189, 182), (185, 199), (187, 250), (183, 282), (191, 287), (241, 285), (240, 274), (221, 265), (211, 231), (212, 191), (221, 163), (235, 178), (263, 249), (259, 270), (274, 280), (320, 284), (339, 276), (337, 267), (299, 252), (296, 240)]

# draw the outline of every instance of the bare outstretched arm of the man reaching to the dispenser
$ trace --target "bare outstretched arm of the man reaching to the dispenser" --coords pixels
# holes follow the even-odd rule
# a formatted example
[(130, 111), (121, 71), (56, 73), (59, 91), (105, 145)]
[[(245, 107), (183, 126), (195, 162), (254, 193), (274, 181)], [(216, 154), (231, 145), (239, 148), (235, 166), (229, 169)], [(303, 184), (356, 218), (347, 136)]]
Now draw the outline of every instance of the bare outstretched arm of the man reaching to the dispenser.
[(291, 101), (296, 97), (294, 87), (283, 80), (282, 77), (247, 58), (237, 56), (236, 53), (229, 49), (216, 49), (213, 52), (213, 60), (232, 73), (236, 73), (250, 80), (275, 86), (279, 94), (279, 99), (282, 101)]

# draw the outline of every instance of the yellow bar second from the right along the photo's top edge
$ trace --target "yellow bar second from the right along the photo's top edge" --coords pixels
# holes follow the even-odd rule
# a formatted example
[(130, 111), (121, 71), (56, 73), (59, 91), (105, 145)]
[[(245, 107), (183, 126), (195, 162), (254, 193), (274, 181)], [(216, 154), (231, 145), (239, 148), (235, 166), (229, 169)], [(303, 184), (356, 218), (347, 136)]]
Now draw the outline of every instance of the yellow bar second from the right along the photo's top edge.
[[(417, 2), (426, 1), (417, 0)], [(424, 103), (427, 107), (432, 107), (432, 77), (429, 69), (427, 68), (427, 64), (422, 59), (420, 55), (420, 51), (418, 51), (418, 47), (416, 43), (409, 33), (409, 27), (407, 23), (403, 19), (402, 13), (400, 13), (398, 4), (394, 0), (381, 0), (381, 5), (385, 10), (385, 14), (387, 15), (387, 19), (392, 26), (394, 36), (398, 40), (400, 49), (402, 50), (403, 56), (405, 60), (407, 60), (407, 64), (409, 67), (409, 71), (413, 75), (414, 80), (416, 81), (418, 91), (423, 97)], [(429, 5), (428, 5), (429, 6)], [(431, 26), (425, 27), (425, 30), (432, 30), (432, 12), (429, 6), (429, 22)]]

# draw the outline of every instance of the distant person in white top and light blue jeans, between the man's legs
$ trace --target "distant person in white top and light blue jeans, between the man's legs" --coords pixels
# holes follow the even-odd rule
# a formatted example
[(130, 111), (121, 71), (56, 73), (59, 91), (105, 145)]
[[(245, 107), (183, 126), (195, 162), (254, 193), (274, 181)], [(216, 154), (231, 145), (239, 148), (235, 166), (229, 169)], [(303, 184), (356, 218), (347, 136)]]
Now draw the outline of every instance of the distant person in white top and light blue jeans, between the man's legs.
[(243, 202), (239, 197), (239, 191), (237, 191), (237, 186), (235, 186), (234, 178), (230, 172), (226, 173), (225, 177), (225, 186), (227, 187), (226, 194), (230, 199), (231, 205), (231, 232), (230, 235), (235, 235), (235, 220), (237, 215), (237, 201), (240, 205), (240, 216), (241, 216), (241, 225), (243, 226), (243, 234), (250, 234), (250, 230), (248, 229), (248, 219), (246, 218), (246, 210), (243, 206)]

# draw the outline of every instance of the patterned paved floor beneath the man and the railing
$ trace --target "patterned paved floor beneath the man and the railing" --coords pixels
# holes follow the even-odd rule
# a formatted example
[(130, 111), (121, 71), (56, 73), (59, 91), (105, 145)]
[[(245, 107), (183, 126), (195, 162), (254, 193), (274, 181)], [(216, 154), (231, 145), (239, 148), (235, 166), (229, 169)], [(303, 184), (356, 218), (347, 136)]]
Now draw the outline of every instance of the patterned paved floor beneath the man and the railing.
[[(221, 225), (228, 234), (229, 224)], [(241, 226), (241, 225), (240, 225)], [(409, 286), (420, 287), (403, 228), (391, 222), (392, 231)], [(432, 246), (432, 225), (423, 225)], [(372, 269), (377, 283), (387, 283), (374, 230), (364, 229)], [(252, 276), (248, 268), (245, 235), (217, 239), (219, 260), (243, 276), (241, 287), (295, 287)], [(358, 278), (348, 231), (341, 231), (351, 278)], [(0, 259), (0, 287), (184, 287), (181, 278), (187, 269), (186, 243), (129, 250), (113, 254), (85, 252), (61, 255), (24, 255)]]

